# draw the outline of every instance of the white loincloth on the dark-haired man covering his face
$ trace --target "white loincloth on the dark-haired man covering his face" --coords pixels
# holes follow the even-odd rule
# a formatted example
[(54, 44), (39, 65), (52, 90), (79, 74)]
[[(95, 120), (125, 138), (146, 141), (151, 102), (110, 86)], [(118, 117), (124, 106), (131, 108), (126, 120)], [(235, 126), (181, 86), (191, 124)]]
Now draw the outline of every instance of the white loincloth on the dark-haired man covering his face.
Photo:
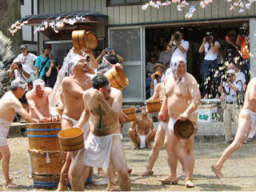
[(83, 164), (86, 166), (108, 168), (114, 135), (119, 135), (122, 138), (122, 134), (109, 134), (99, 137), (90, 133), (86, 140)]

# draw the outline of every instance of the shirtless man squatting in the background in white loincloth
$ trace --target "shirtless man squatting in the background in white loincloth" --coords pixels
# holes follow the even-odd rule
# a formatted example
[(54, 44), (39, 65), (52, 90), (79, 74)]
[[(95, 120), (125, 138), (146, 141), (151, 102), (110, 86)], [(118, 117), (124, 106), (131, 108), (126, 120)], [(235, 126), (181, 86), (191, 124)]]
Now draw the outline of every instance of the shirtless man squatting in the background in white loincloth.
[[(134, 130), (134, 126), (136, 126)], [(134, 143), (134, 150), (139, 148), (152, 148), (151, 142), (154, 141), (156, 133), (153, 119), (146, 115), (146, 107), (141, 107), (141, 116), (138, 116), (134, 122), (131, 122), (128, 130), (129, 138)]]

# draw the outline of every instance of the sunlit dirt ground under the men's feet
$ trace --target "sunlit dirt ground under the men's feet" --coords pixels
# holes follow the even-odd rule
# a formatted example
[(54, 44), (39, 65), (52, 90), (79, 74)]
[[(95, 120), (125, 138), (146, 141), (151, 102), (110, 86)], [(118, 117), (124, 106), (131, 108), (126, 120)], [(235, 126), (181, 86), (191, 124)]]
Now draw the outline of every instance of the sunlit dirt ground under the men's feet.
[[(33, 188), (32, 179), (28, 178), (28, 138), (8, 138), (11, 151), (10, 159), (10, 175), (14, 181), (18, 183), (17, 190), (36, 190)], [(194, 167), (194, 183), (193, 189), (186, 189), (182, 178), (177, 186), (162, 186), (158, 182), (159, 178), (168, 173), (166, 162), (166, 150), (162, 148), (159, 158), (154, 166), (154, 176), (140, 177), (138, 173), (145, 170), (147, 158), (150, 154), (149, 149), (130, 150), (132, 143), (126, 138), (123, 142), (123, 148), (126, 153), (128, 165), (133, 168), (130, 176), (132, 190), (173, 190), (173, 191), (221, 191), (221, 190), (255, 190), (256, 189), (256, 140), (250, 141), (242, 146), (242, 150), (238, 150), (226, 162), (222, 169), (226, 178), (217, 179), (211, 172), (210, 166), (217, 161), (226, 148), (222, 141), (214, 142), (195, 142), (195, 167)], [(2, 168), (1, 168), (2, 170)], [(181, 167), (178, 166), (178, 172)], [(0, 175), (3, 182), (2, 174)], [(86, 186), (86, 190), (106, 190), (106, 186)], [(8, 190), (4, 186), (0, 186), (0, 190)]]

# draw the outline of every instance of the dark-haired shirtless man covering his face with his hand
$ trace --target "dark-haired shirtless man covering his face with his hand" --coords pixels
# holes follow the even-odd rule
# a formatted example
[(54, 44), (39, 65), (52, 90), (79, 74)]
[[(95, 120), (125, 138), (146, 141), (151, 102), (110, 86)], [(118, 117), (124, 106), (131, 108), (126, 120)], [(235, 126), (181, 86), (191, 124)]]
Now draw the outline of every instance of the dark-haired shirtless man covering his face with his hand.
[(130, 177), (126, 157), (122, 150), (119, 114), (122, 109), (122, 92), (110, 87), (108, 79), (98, 74), (92, 79), (90, 90), (83, 94), (85, 110), (78, 122), (82, 127), (90, 118), (90, 134), (83, 150), (79, 150), (71, 167), (72, 190), (84, 189), (84, 178), (89, 166), (108, 168), (109, 186), (118, 172), (120, 189), (130, 190)]

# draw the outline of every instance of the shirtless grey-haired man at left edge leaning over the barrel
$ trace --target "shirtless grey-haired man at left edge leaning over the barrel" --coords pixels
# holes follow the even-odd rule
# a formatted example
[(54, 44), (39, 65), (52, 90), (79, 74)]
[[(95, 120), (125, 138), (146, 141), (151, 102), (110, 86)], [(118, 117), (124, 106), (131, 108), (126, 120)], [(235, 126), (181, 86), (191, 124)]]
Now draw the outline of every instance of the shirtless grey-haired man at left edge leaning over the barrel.
[(14, 121), (14, 114), (17, 112), (26, 122), (34, 122), (18, 98), (25, 94), (26, 83), (21, 79), (15, 79), (11, 82), (10, 91), (6, 92), (0, 99), (0, 159), (2, 159), (2, 172), (5, 178), (5, 185), (8, 187), (17, 187), (9, 176), (10, 149), (6, 138), (9, 132), (10, 124)]

